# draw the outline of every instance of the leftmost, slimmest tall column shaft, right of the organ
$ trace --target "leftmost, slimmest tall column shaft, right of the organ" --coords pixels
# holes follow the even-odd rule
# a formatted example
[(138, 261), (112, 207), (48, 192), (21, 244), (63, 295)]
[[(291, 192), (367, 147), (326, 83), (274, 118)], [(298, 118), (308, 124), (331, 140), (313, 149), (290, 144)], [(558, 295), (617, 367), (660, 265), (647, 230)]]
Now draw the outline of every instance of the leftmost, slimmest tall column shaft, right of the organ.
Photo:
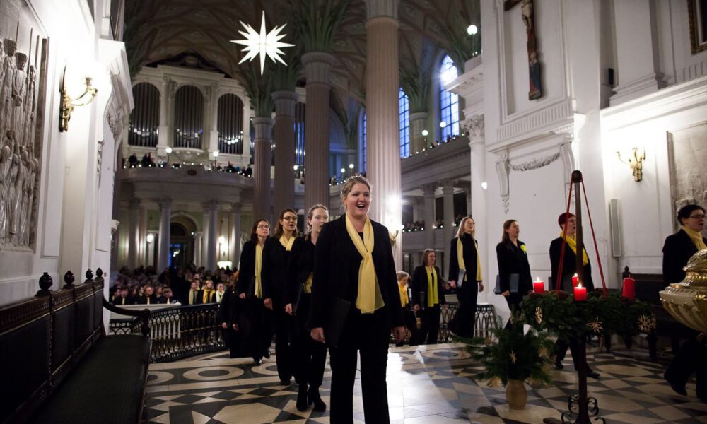
[(255, 126), (255, 167), (253, 178), (253, 219), (270, 220), (270, 141), (272, 140), (271, 118), (253, 118)]

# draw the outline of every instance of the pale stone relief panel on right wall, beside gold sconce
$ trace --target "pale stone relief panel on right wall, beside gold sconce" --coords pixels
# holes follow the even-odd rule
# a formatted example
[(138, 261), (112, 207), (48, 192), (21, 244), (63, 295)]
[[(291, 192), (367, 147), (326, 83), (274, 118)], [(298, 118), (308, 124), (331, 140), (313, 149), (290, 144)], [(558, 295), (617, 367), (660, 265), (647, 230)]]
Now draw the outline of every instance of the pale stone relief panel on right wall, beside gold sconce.
[(707, 123), (672, 133), (671, 189), (674, 210), (688, 204), (707, 206)]

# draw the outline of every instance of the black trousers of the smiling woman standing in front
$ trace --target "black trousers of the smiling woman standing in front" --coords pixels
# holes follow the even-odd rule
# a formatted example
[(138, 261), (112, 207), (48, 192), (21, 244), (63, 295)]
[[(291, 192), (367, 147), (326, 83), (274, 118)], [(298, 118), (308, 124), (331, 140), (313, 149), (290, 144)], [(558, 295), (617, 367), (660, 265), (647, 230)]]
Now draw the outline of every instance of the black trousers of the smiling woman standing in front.
[(385, 308), (373, 314), (351, 312), (339, 344), (329, 348), (332, 367), (331, 422), (354, 423), (354, 380), (356, 353), (361, 355), (361, 392), (367, 424), (389, 424), (385, 370), (388, 359), (390, 323)]

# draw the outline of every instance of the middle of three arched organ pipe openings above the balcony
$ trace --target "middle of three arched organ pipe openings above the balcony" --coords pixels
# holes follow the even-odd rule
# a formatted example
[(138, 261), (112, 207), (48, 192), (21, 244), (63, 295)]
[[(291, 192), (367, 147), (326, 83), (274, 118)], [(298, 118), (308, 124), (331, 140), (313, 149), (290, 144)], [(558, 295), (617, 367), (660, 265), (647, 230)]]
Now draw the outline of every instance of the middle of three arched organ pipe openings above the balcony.
[(204, 95), (194, 86), (175, 94), (175, 147), (201, 148), (204, 135)]

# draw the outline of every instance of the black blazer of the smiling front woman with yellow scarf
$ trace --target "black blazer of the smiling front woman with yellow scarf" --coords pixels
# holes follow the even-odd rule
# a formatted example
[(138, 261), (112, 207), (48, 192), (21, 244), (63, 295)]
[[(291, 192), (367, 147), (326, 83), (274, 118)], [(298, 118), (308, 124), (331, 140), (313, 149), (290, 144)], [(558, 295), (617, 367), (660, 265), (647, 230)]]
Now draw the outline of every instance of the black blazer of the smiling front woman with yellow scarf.
[[(346, 231), (346, 216), (326, 223), (317, 239), (312, 283), (312, 304), (308, 327), (327, 327), (332, 318), (332, 305), (341, 298), (356, 305), (358, 295), (358, 267), (361, 254)], [(400, 292), (395, 276), (390, 235), (387, 228), (375, 221), (373, 225), (373, 264), (378, 277), (380, 295), (385, 302), (387, 317), (392, 326), (403, 326), (404, 315), (400, 306)]]

